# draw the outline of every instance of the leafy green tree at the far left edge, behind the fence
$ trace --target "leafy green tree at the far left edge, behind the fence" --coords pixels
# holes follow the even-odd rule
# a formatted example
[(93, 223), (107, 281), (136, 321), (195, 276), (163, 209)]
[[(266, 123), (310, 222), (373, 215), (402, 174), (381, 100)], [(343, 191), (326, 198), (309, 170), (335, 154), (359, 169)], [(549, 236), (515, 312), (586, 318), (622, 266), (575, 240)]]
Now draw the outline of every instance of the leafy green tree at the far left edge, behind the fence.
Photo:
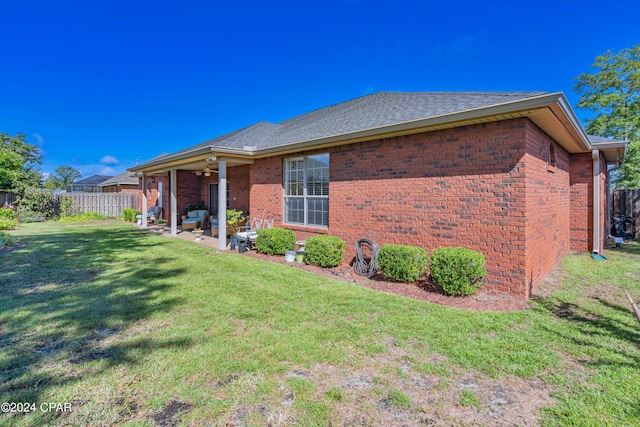
[(42, 162), (38, 147), (27, 143), (21, 133), (0, 133), (0, 190), (21, 191), (40, 186), (37, 165)]

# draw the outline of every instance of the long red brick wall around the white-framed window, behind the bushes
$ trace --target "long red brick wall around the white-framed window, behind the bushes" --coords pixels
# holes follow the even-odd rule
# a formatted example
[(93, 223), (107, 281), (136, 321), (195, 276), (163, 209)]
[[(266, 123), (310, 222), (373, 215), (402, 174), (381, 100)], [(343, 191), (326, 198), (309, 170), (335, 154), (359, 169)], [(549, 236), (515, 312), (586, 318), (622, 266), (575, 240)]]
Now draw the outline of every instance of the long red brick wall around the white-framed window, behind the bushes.
[[(487, 258), (488, 288), (526, 295), (527, 123), (508, 120), (325, 150), (331, 156), (329, 229), (319, 232), (346, 241), (347, 261), (363, 237), (428, 251), (479, 250)], [(256, 161), (251, 183), (251, 209), (281, 223), (282, 158)], [(287, 227), (298, 238), (317, 230)]]

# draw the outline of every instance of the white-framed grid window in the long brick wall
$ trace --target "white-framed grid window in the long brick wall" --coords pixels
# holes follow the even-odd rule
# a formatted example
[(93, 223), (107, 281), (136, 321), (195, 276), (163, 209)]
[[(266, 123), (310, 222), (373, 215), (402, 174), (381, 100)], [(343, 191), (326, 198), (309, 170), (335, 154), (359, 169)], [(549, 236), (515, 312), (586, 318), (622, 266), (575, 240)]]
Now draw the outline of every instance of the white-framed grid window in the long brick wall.
[(284, 161), (284, 222), (329, 226), (329, 154)]

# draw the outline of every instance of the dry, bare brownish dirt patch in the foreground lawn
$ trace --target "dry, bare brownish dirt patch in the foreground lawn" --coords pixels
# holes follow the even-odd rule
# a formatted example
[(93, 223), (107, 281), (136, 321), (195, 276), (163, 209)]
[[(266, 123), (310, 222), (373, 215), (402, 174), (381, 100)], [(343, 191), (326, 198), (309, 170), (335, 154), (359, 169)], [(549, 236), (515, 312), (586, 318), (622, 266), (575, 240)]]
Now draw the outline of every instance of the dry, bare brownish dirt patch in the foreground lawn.
[[(326, 402), (326, 425), (537, 426), (541, 409), (554, 404), (553, 390), (538, 378), (492, 378), (394, 342), (388, 337), (387, 350), (358, 367), (291, 367), (259, 401), (255, 394), (248, 398), (255, 386), (247, 386), (226, 425), (305, 424), (302, 409)], [(425, 370), (425, 364), (439, 372)]]

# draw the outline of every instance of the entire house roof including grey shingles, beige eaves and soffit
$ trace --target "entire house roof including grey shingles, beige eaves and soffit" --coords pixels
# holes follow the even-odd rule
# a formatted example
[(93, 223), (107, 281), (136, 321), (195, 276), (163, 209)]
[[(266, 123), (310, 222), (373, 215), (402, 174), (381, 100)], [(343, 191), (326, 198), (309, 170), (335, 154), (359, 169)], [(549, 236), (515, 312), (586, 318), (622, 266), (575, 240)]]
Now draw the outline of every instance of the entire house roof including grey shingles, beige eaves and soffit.
[[(212, 153), (266, 157), (516, 117), (529, 117), (569, 152), (592, 148), (590, 138), (562, 93), (378, 92), (280, 123), (259, 122), (130, 170), (151, 171), (169, 163), (193, 161), (198, 156), (204, 160)], [(615, 150), (620, 149), (607, 147), (607, 161), (616, 157), (612, 154)]]

